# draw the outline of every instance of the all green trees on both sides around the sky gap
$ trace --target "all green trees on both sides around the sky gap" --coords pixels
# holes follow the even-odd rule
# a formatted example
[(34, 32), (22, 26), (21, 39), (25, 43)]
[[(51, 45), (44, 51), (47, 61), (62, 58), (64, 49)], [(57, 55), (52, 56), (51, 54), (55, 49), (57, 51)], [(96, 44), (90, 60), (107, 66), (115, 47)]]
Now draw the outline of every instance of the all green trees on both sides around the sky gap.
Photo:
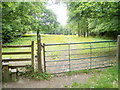
[(120, 34), (119, 2), (67, 2), (68, 25), (58, 23), (44, 2), (2, 2), (2, 40), (11, 42), (29, 31), (78, 36)]

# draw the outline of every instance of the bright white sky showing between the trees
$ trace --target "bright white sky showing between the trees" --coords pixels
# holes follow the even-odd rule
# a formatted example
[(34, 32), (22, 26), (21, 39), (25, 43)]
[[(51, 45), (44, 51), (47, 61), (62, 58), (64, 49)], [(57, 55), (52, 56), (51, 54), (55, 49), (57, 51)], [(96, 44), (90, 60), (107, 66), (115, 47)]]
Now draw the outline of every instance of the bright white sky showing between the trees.
[(47, 9), (51, 9), (57, 16), (57, 21), (62, 24), (67, 24), (67, 6), (63, 3), (55, 4), (52, 2), (49, 2), (49, 4), (46, 5)]

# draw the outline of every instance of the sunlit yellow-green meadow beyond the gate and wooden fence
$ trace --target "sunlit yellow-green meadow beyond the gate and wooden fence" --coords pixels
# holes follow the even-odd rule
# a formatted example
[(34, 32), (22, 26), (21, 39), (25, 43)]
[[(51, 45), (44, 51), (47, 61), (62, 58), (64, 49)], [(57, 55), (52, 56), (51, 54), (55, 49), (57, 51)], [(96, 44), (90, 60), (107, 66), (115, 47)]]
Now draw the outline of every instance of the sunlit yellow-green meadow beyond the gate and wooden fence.
[[(30, 45), (31, 41), (34, 41), (35, 43), (35, 55), (36, 55), (36, 50), (37, 50), (37, 42), (36, 42), (36, 34), (25, 34), (23, 37), (17, 38), (14, 40), (14, 42), (11, 43), (6, 43), (4, 45)], [(75, 42), (92, 42), (92, 41), (104, 41), (108, 39), (100, 39), (100, 38), (93, 38), (93, 37), (77, 37), (75, 35), (41, 35), (41, 41), (42, 43), (50, 44), (50, 43), (75, 43)], [(113, 44), (113, 43), (111, 43)], [(92, 44), (93, 47), (100, 47), (100, 46), (107, 46), (108, 44)], [(114, 44), (113, 44), (114, 45)], [(89, 48), (89, 44), (81, 44), (81, 45), (71, 45), (71, 49), (80, 49), (80, 48)], [(46, 50), (68, 50), (68, 45), (57, 45), (57, 46), (47, 46)], [(31, 48), (3, 48), (3, 52), (8, 52), (8, 51), (14, 51), (14, 52), (22, 52), (22, 51), (30, 51)], [(114, 49), (113, 49), (114, 50)], [(108, 49), (94, 49), (94, 51), (103, 52), (103, 55), (105, 53), (108, 53)], [(88, 50), (82, 50), (82, 53), (89, 52)], [(112, 52), (112, 49), (111, 49)], [(73, 51), (73, 53), (81, 53), (81, 51)], [(60, 55), (61, 52), (49, 52), (46, 53), (48, 55)], [(95, 53), (96, 54), (96, 53)], [(26, 58), (26, 57), (31, 57), (30, 55), (3, 55), (3, 58)], [(76, 56), (72, 56), (73, 58), (76, 58)], [(58, 59), (58, 57), (52, 57), (53, 59)]]

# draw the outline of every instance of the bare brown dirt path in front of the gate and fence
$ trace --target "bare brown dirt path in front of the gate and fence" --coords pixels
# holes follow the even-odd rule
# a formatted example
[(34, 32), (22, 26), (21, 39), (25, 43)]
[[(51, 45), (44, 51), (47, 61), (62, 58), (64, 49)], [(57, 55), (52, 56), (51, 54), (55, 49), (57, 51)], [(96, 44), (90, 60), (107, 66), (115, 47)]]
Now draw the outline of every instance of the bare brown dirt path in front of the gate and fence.
[(57, 75), (51, 80), (31, 80), (19, 77), (17, 82), (4, 83), (3, 88), (64, 88), (65, 85), (69, 86), (73, 82), (85, 83), (92, 76), (92, 73), (72, 76)]

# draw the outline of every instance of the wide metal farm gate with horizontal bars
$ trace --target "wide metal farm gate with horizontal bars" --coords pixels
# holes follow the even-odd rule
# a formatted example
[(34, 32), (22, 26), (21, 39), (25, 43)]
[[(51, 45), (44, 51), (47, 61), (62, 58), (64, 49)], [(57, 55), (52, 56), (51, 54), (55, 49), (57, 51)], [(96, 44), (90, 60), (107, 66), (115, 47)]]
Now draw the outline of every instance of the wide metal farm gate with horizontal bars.
[(117, 62), (116, 42), (43, 44), (44, 71), (62, 73), (112, 66)]

